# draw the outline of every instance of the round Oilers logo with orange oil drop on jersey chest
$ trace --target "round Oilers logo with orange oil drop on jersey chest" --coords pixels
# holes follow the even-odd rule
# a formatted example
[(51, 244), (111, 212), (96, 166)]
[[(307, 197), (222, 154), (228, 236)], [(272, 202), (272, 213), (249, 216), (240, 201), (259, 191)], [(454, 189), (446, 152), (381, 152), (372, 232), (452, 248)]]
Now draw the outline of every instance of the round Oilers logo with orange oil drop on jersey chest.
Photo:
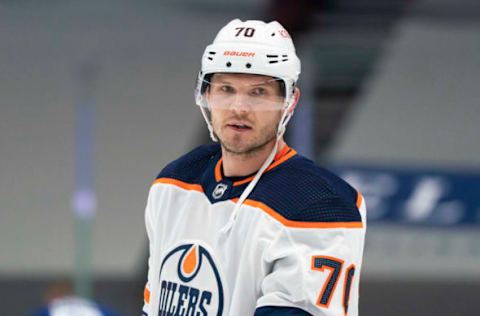
[(224, 287), (210, 252), (182, 244), (166, 254), (160, 267), (159, 316), (222, 315)]

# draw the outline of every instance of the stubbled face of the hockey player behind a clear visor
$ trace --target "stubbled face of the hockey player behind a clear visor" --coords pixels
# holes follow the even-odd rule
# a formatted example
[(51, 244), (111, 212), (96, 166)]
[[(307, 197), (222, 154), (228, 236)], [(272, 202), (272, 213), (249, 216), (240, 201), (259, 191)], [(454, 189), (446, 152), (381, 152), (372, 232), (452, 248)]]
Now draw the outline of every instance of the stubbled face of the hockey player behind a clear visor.
[[(283, 97), (279, 82), (272, 79), (227, 73), (215, 74), (210, 79), (212, 84), (206, 93), (212, 104), (212, 126), (227, 152), (252, 154), (276, 139), (282, 116), (282, 107), (277, 103)], [(220, 100), (228, 99), (228, 103), (215, 106), (218, 96)]]

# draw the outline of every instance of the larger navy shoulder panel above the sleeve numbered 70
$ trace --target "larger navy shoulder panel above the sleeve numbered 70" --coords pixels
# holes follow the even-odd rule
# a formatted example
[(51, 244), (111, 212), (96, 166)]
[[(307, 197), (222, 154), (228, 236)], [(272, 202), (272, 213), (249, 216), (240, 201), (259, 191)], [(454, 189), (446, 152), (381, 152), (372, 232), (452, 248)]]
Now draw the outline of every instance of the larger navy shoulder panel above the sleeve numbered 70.
[(311, 160), (294, 156), (260, 178), (249, 199), (300, 222), (361, 222), (358, 192)]

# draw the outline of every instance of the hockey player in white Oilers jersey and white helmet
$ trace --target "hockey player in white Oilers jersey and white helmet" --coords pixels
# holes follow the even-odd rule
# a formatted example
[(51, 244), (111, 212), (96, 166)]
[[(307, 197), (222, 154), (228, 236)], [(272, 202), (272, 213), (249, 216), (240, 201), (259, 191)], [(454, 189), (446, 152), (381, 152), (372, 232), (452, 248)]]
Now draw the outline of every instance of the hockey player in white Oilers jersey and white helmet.
[(143, 315), (357, 315), (365, 204), (283, 133), (300, 61), (278, 23), (233, 20), (195, 90), (210, 135), (166, 166), (146, 206)]

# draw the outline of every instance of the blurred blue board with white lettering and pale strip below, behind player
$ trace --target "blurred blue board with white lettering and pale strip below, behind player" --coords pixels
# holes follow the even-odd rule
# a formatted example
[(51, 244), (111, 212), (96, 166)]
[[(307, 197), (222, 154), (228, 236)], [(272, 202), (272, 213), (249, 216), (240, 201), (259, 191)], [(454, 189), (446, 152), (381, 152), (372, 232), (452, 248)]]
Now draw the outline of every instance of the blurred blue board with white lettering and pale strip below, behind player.
[(366, 277), (480, 280), (480, 170), (329, 169), (367, 203)]

